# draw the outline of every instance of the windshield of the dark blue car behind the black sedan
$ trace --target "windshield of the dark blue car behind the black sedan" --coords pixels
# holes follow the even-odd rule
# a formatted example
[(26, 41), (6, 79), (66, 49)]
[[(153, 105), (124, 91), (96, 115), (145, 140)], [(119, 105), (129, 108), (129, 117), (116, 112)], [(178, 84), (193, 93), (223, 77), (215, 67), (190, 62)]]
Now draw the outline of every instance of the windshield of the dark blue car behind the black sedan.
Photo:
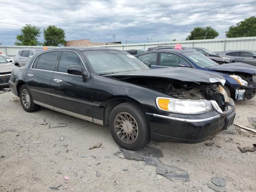
[(218, 63), (198, 52), (184, 52), (183, 54), (195, 62), (199, 67), (208, 68), (219, 65)]

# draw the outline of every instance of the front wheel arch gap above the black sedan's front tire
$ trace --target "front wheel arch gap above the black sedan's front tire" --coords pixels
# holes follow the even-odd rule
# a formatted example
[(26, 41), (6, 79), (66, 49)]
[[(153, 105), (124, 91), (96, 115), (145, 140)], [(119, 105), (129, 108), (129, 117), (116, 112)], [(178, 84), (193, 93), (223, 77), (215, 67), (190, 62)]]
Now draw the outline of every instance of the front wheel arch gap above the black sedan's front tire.
[(104, 110), (104, 120), (103, 120), (104, 126), (108, 127), (109, 116), (110, 116), (111, 111), (114, 109), (114, 107), (121, 103), (125, 103), (125, 102), (132, 102), (132, 103), (138, 105), (143, 110), (143, 108), (140, 106), (140, 104), (137, 101), (128, 100), (128, 99), (124, 99), (124, 98), (112, 99), (110, 102), (108, 102), (108, 104), (106, 105), (106, 108)]

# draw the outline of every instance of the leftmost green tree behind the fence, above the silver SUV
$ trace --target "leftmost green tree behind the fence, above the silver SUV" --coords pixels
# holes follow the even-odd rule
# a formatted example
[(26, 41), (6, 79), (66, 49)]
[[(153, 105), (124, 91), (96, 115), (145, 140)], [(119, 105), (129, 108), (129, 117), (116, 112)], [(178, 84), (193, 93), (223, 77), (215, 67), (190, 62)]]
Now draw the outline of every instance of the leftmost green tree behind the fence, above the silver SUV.
[(40, 44), (37, 40), (40, 36), (40, 28), (32, 26), (31, 24), (26, 24), (20, 31), (21, 34), (16, 36), (17, 41), (14, 43), (15, 45), (36, 46)]

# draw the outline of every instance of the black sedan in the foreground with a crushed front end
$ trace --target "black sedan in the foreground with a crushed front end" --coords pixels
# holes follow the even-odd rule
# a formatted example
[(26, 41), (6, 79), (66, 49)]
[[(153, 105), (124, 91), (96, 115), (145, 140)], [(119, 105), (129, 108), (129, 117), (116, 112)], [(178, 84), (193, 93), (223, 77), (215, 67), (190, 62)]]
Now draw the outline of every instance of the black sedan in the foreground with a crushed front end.
[(107, 48), (56, 48), (12, 71), (22, 107), (44, 106), (110, 128), (114, 140), (139, 150), (152, 140), (198, 143), (233, 122), (224, 77), (192, 68), (150, 70)]

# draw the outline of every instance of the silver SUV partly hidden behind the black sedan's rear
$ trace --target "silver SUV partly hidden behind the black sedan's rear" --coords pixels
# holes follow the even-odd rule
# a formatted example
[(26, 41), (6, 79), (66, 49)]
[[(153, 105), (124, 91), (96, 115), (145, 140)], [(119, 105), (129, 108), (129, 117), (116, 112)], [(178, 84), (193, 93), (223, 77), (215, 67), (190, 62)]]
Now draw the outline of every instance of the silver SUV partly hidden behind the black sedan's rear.
[(29, 48), (29, 49), (24, 49), (24, 50), (20, 50), (18, 52), (18, 54), (13, 58), (13, 63), (14, 65), (18, 66), (18, 67), (22, 67), (25, 66), (26, 63), (28, 62), (28, 60), (30, 60), (30, 58), (38, 53), (43, 51), (43, 48), (38, 48), (38, 49), (33, 49), (33, 48)]

